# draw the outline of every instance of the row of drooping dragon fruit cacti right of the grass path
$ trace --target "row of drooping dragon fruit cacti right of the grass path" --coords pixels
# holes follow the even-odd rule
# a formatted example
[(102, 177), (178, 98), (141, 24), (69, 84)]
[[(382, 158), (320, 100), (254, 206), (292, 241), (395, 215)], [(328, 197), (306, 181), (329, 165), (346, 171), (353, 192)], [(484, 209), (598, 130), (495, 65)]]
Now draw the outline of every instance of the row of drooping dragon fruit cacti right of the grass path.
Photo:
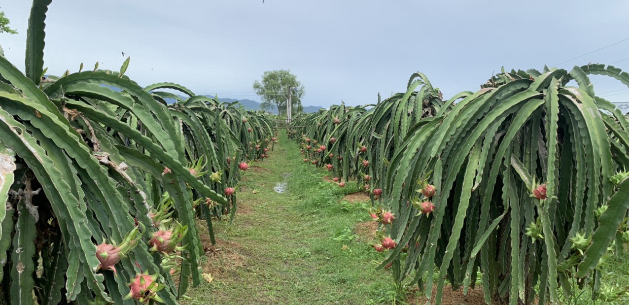
[(594, 298), (620, 301), (626, 288), (599, 289), (600, 267), (629, 235), (629, 125), (596, 96), (592, 74), (629, 86), (629, 74), (599, 64), (503, 70), (444, 100), (418, 73), (377, 104), (299, 116), (296, 126), (311, 127), (291, 137), (313, 163), (370, 191), (383, 236), (374, 247), (389, 249), (380, 267), (429, 299), (436, 285), (436, 304), (445, 280), (467, 291), (477, 277), (487, 304), (557, 304), (572, 277)]

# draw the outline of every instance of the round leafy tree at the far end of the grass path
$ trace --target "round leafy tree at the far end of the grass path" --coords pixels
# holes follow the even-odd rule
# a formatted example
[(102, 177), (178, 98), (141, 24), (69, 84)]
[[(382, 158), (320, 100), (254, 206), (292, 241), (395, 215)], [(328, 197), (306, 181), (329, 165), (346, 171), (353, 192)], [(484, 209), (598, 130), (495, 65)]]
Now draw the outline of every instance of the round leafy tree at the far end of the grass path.
[(253, 90), (262, 98), (260, 106), (264, 110), (269, 110), (277, 106), (279, 114), (286, 113), (289, 88), (292, 88), (292, 109), (293, 113), (303, 110), (301, 98), (304, 96), (304, 86), (297, 80), (297, 76), (291, 74), (291, 70), (266, 71), (262, 75), (262, 81), (253, 82)]

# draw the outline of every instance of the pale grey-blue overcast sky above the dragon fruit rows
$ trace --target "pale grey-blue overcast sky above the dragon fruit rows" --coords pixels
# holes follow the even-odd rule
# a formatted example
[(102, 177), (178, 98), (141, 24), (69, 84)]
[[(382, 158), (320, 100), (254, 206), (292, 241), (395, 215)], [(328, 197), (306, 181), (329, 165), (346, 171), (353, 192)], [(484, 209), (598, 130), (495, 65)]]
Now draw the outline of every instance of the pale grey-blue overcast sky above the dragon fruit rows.
[[(48, 73), (76, 72), (81, 63), (91, 69), (96, 62), (119, 70), (130, 56), (126, 75), (141, 86), (175, 82), (196, 94), (260, 101), (253, 81), (266, 70), (289, 69), (306, 89), (304, 106), (328, 107), (375, 103), (378, 92), (385, 98), (406, 91), (416, 71), (450, 97), (476, 91), (503, 66), (571, 69), (617, 62), (629, 70), (624, 0), (174, 3), (53, 1), (46, 20)], [(0, 45), (21, 70), (30, 6), (28, 0), (0, 0), (19, 31), (0, 34)], [(599, 96), (629, 101), (629, 88), (617, 80), (592, 80)]]

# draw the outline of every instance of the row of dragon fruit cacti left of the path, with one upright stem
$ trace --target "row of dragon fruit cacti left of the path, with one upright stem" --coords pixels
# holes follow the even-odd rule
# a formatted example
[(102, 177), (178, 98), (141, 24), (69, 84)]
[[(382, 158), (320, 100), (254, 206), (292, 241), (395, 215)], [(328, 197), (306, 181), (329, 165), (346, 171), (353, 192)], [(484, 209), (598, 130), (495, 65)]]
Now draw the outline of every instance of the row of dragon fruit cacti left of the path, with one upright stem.
[(141, 87), (129, 59), (45, 75), (51, 2), (33, 1), (26, 72), (0, 56), (0, 304), (177, 304), (272, 123), (178, 84)]

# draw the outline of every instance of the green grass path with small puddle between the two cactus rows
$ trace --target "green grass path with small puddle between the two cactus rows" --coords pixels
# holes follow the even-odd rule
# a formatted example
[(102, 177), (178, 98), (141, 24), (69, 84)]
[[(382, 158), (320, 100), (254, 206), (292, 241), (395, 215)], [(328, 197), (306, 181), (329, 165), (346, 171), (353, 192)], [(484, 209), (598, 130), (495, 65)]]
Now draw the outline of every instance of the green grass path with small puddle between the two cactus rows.
[[(203, 263), (214, 280), (191, 289), (185, 304), (386, 301), (390, 275), (374, 269), (384, 255), (355, 233), (369, 221), (365, 204), (339, 202), (355, 183), (325, 182), (325, 172), (301, 162), (295, 143), (279, 140), (243, 177), (233, 225), (215, 226), (219, 241)], [(274, 191), (278, 182), (287, 182), (283, 194)]]

